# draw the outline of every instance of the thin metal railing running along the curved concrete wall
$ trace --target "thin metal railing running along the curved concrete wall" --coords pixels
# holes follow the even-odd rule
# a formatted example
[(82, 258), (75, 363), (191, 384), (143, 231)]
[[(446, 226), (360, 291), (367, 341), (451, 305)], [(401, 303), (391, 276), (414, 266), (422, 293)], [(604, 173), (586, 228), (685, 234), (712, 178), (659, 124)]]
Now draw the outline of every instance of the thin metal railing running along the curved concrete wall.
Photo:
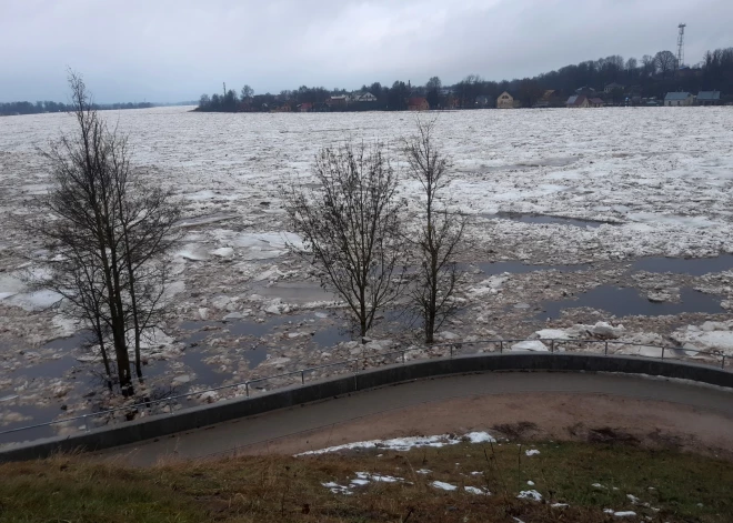
[[(569, 339), (515, 339), (515, 340), (481, 340), (481, 341), (471, 341), (471, 342), (451, 342), (451, 343), (442, 343), (442, 344), (435, 344), (435, 345), (430, 345), (430, 346), (411, 346), (408, 349), (400, 349), (396, 351), (389, 351), (389, 352), (375, 352), (373, 354), (362, 354), (357, 358), (351, 358), (348, 360), (342, 360), (339, 362), (334, 363), (327, 363), (324, 365), (317, 365), (317, 366), (309, 366), (309, 368), (303, 368), (300, 370), (291, 371), (291, 372), (284, 372), (281, 374), (273, 374), (269, 376), (263, 376), (263, 378), (257, 378), (253, 380), (247, 380), (240, 383), (233, 383), (229, 385), (221, 385), (221, 386), (215, 386), (211, 389), (205, 389), (201, 391), (195, 391), (195, 392), (187, 392), (184, 394), (177, 394), (177, 395), (170, 395), (167, 398), (162, 398), (159, 400), (149, 400), (149, 401), (143, 401), (140, 403), (131, 404), (131, 405), (123, 405), (123, 406), (118, 406), (113, 409), (107, 409), (102, 410), (99, 412), (92, 412), (88, 414), (81, 414), (78, 416), (72, 416), (72, 418), (64, 418), (61, 420), (54, 420), (46, 423), (38, 423), (33, 425), (26, 425), (26, 426), (19, 426), (16, 429), (9, 429), (6, 431), (0, 432), (0, 436), (6, 435), (6, 434), (12, 434), (12, 433), (23, 433), (27, 431), (31, 431), (34, 429), (41, 429), (41, 428), (53, 428), (56, 425), (68, 425), (71, 422), (76, 421), (83, 421), (84, 426), (83, 430), (89, 432), (90, 426), (89, 422), (91, 420), (94, 420), (97, 418), (103, 418), (103, 416), (114, 416), (114, 414), (118, 413), (124, 413), (124, 414), (141, 414), (145, 413), (147, 415), (165, 415), (167, 413), (173, 413), (174, 411), (174, 405), (175, 402), (179, 402), (181, 400), (189, 400), (191, 398), (195, 396), (201, 396), (202, 394), (205, 394), (208, 392), (219, 392), (223, 390), (237, 390), (243, 388), (244, 389), (244, 396), (245, 398), (251, 398), (253, 393), (253, 389), (257, 390), (258, 386), (257, 384), (268, 382), (268, 381), (273, 381), (273, 380), (282, 380), (287, 378), (300, 378), (300, 380), (295, 379), (295, 383), (300, 382), (301, 385), (305, 385), (307, 379), (305, 375), (307, 373), (313, 373), (317, 371), (323, 371), (327, 369), (331, 368), (338, 368), (338, 366), (344, 366), (347, 369), (345, 373), (342, 373), (341, 375), (358, 375), (360, 370), (366, 370), (366, 369), (372, 369), (372, 368), (378, 368), (380, 364), (376, 365), (369, 365), (370, 360), (384, 360), (385, 358), (389, 356), (395, 356), (395, 362), (394, 363), (401, 363), (405, 364), (408, 361), (429, 361), (429, 360), (434, 360), (434, 359), (440, 359), (440, 358), (454, 358), (455, 355), (461, 355), (463, 348), (464, 346), (475, 346), (475, 345), (491, 345), (491, 349), (489, 352), (499, 352), (503, 353), (505, 350), (509, 349), (510, 352), (533, 352), (532, 350), (526, 350), (526, 349), (512, 349), (513, 344), (522, 343), (522, 342), (530, 342), (530, 341), (539, 341), (545, 344), (545, 350), (552, 354), (555, 353), (561, 353), (561, 352), (566, 352), (565, 349), (568, 346), (573, 346), (578, 345), (580, 346), (588, 346), (588, 345), (601, 345), (603, 349), (603, 354), (609, 355), (609, 346), (613, 345), (622, 345), (622, 346), (641, 346), (645, 349), (652, 349), (652, 350), (659, 350), (660, 355), (640, 355), (640, 354), (621, 354), (624, 356), (632, 356), (632, 358), (644, 358), (644, 359), (657, 359), (657, 360), (669, 360), (669, 359), (675, 359), (675, 360), (683, 360), (683, 359), (695, 359), (701, 355), (704, 356), (710, 356), (715, 360), (720, 360), (720, 364), (716, 362), (714, 365), (711, 366), (716, 366), (722, 369), (725, 372), (731, 372), (730, 370), (726, 370), (726, 358), (727, 361), (730, 362), (733, 360), (733, 356), (726, 356), (724, 353), (716, 353), (716, 352), (710, 352), (710, 351), (697, 351), (693, 349), (683, 349), (683, 348), (675, 348), (671, 345), (652, 345), (647, 343), (629, 343), (624, 341), (619, 341), (619, 340), (569, 340)], [(549, 345), (549, 346), (548, 346)], [(408, 356), (411, 353), (424, 353), (425, 351), (434, 351), (439, 350), (441, 351), (441, 355), (438, 358), (415, 358), (415, 359), (409, 359)], [(538, 352), (544, 352), (544, 351), (538, 351)], [(588, 352), (588, 351), (582, 351), (578, 350), (576, 352)], [(478, 354), (479, 352), (468, 352), (464, 354)], [(600, 353), (599, 352), (591, 352), (591, 353)], [(615, 354), (615, 352), (612, 352), (612, 354)], [(692, 354), (692, 356), (691, 356)], [(704, 362), (703, 362), (704, 363)], [(384, 364), (390, 364), (390, 363), (384, 363)], [(289, 383), (284, 386), (290, 386), (293, 383)], [(232, 398), (240, 398), (240, 394), (234, 394)], [(232, 399), (228, 398), (228, 399)], [(162, 405), (162, 408), (168, 408), (168, 412), (153, 412), (157, 406)], [(182, 405), (181, 405), (182, 408)], [(111, 420), (113, 423), (114, 421)], [(122, 421), (121, 421), (122, 422)], [(110, 424), (110, 423), (107, 423)], [(104, 426), (104, 425), (99, 425), (99, 426)], [(7, 443), (0, 443), (0, 446), (7, 444)]]

